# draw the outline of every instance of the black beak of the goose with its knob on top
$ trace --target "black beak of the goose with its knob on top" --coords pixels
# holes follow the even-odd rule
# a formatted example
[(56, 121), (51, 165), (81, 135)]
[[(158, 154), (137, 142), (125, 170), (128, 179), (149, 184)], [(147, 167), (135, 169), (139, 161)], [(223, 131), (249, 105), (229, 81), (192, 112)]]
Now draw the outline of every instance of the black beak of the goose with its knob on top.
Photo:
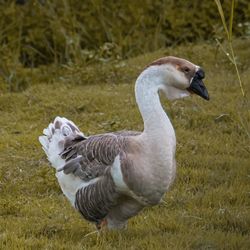
[(202, 81), (203, 78), (205, 78), (205, 72), (203, 71), (203, 69), (199, 68), (196, 71), (195, 76), (192, 79), (192, 82), (187, 90), (189, 90), (190, 92), (194, 92), (195, 94), (201, 96), (206, 100), (209, 100), (207, 89)]

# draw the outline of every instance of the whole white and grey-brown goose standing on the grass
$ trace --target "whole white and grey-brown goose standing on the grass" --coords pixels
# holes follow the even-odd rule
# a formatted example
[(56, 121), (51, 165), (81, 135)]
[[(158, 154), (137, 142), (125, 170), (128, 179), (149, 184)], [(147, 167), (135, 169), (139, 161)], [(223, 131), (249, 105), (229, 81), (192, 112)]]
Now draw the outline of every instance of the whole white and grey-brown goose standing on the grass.
[(141, 72), (135, 98), (144, 130), (85, 136), (56, 117), (39, 137), (64, 195), (97, 229), (122, 229), (143, 208), (157, 205), (176, 175), (176, 137), (162, 108), (195, 93), (209, 100), (203, 69), (185, 59), (160, 58)]

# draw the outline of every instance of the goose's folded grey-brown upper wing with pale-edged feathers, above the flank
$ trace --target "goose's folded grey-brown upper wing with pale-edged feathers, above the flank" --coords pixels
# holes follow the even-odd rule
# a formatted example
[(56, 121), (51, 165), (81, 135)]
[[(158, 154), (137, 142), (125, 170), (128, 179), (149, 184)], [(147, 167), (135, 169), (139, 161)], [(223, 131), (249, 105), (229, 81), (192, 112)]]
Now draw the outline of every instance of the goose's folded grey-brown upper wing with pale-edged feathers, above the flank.
[(103, 175), (115, 157), (126, 150), (128, 138), (139, 132), (120, 131), (90, 137), (68, 137), (61, 157), (66, 164), (59, 170), (85, 181)]

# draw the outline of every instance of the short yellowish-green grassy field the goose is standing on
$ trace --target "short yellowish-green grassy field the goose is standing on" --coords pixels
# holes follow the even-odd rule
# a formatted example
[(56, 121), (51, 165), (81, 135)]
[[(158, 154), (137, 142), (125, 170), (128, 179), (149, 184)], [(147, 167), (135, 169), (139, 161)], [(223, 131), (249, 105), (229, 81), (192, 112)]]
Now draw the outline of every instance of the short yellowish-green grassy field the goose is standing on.
[[(250, 41), (234, 46), (249, 97)], [(162, 98), (178, 142), (171, 191), (165, 202), (131, 219), (127, 230), (88, 235), (94, 226), (62, 195), (38, 136), (57, 115), (86, 134), (141, 130), (134, 81), (164, 55), (201, 65), (211, 100)], [(0, 249), (250, 248), (250, 102), (214, 44), (106, 64), (8, 70), (14, 78), (0, 79)]]

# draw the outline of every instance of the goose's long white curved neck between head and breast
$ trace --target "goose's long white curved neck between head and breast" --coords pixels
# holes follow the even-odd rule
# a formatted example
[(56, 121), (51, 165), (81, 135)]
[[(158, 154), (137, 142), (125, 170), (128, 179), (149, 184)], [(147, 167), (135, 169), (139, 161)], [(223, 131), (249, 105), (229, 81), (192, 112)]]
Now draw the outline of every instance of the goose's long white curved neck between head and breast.
[(175, 141), (173, 126), (159, 98), (161, 84), (161, 78), (154, 74), (142, 73), (136, 81), (135, 95), (144, 122), (143, 133), (154, 139), (172, 138)]

